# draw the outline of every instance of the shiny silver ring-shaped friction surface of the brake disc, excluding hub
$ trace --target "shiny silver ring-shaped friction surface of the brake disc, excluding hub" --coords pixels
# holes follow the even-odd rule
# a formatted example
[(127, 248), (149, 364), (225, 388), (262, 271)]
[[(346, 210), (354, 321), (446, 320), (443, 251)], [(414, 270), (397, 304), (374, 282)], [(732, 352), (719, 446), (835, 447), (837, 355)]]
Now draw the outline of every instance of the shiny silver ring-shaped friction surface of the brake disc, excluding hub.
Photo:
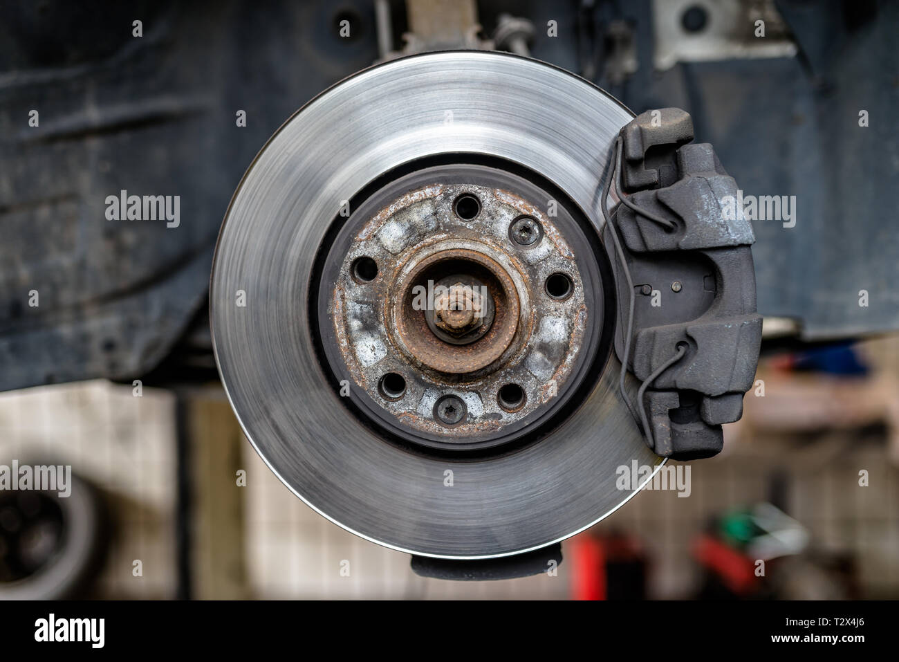
[[(458, 460), (381, 439), (343, 406), (310, 336), (316, 251), (343, 201), (434, 155), (498, 157), (554, 183), (599, 223), (610, 147), (632, 115), (561, 69), (452, 51), (361, 71), (308, 103), (245, 174), (218, 238), (210, 314), (247, 438), (298, 497), (396, 550), (485, 559), (583, 531), (636, 494), (617, 468), (657, 467), (610, 357), (583, 405), (535, 443)], [(238, 291), (245, 306), (238, 306)], [(446, 472), (452, 471), (449, 487)]]

